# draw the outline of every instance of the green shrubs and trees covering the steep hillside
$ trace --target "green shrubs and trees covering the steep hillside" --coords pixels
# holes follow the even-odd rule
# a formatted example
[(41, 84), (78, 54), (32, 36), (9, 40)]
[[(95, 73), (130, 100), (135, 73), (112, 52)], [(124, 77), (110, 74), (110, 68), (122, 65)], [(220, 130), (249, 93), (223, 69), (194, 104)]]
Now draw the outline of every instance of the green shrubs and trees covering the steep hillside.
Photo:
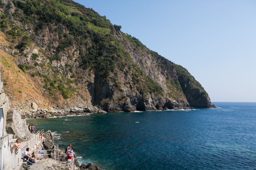
[[(14, 26), (14, 23), (10, 22), (11, 20), (4, 14), (1, 15), (0, 27), (8, 35), (10, 41), (17, 44), (15, 48), (20, 55), (27, 55), (23, 52), (31, 46), (33, 41), (33, 35), (26, 34), (28, 31), (34, 32), (35, 36), (45, 37), (42, 31), (47, 28), (50, 34), (57, 35), (58, 39), (54, 41), (59, 42), (59, 45), (54, 55), (44, 54), (44, 51), (51, 51), (53, 47), (50, 45), (44, 51), (39, 50), (45, 58), (49, 59), (49, 64), (46, 65), (43, 61), (38, 64), (36, 60), (39, 55), (32, 54), (33, 65), (19, 65), (24, 72), (37, 66), (46, 70), (47, 74), (35, 70), (32, 76), (41, 78), (43, 88), (48, 91), (49, 96), (54, 95), (54, 92), (60, 92), (63, 98), (70, 98), (73, 96), (71, 92), (76, 92), (73, 85), (78, 85), (78, 76), (73, 71), (74, 66), (65, 65), (72, 73), (70, 79), (65, 78), (67, 73), (59, 73), (51, 66), (52, 62), (61, 61), (61, 54), (74, 45), (79, 48), (80, 68), (94, 70), (103, 80), (107, 80), (110, 74), (118, 77), (117, 72), (121, 71), (132, 77), (130, 83), (140, 93), (163, 95), (162, 87), (133, 63), (130, 54), (115, 37), (115, 32), (119, 32), (121, 26), (111, 24), (106, 16), (100, 16), (94, 10), (71, 0), (26, 0), (26, 2), (14, 0), (13, 3), (16, 7), (13, 19), (26, 25), (27, 28)], [(146, 49), (146, 46), (135, 37), (131, 35), (126, 35), (126, 37), (135, 50)], [(15, 51), (15, 55), (17, 54)], [(69, 57), (71, 58), (70, 55)], [(118, 83), (115, 84), (121, 89)]]

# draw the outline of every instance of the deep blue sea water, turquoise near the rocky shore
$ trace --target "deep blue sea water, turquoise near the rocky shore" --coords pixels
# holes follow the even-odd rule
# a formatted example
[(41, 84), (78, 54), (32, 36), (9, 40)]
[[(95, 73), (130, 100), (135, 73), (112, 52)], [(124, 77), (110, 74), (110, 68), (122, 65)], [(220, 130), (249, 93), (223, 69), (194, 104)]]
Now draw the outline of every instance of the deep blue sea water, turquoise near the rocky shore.
[[(29, 119), (74, 147), (80, 165), (106, 170), (256, 169), (256, 103), (219, 108)], [(136, 123), (139, 122), (139, 123)]]

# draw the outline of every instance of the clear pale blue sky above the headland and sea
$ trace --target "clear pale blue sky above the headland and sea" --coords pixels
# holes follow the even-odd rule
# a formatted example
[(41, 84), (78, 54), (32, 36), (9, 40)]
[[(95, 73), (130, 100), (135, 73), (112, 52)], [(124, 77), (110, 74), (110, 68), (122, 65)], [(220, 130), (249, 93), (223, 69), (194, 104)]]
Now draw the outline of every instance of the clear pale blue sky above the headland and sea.
[(256, 102), (256, 1), (75, 2), (181, 65), (213, 102)]

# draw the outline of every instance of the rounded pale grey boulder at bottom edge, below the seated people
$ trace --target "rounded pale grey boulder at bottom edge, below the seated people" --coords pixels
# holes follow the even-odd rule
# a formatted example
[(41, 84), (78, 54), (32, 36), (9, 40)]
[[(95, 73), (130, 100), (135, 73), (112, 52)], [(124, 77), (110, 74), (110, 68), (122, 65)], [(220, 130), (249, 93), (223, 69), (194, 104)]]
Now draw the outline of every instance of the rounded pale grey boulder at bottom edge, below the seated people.
[(50, 158), (37, 161), (28, 170), (69, 170), (65, 164)]

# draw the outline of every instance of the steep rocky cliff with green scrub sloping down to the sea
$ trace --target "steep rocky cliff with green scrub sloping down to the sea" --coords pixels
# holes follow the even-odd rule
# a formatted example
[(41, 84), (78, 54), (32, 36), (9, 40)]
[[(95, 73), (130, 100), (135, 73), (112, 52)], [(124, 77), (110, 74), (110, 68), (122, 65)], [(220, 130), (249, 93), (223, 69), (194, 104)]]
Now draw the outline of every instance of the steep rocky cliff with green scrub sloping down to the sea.
[[(3, 81), (13, 107), (26, 110), (31, 102), (43, 108), (98, 106), (108, 112), (212, 107), (185, 68), (92, 9), (71, 0), (0, 4)], [(10, 65), (19, 72), (10, 71)], [(17, 74), (18, 89), (10, 74)]]

